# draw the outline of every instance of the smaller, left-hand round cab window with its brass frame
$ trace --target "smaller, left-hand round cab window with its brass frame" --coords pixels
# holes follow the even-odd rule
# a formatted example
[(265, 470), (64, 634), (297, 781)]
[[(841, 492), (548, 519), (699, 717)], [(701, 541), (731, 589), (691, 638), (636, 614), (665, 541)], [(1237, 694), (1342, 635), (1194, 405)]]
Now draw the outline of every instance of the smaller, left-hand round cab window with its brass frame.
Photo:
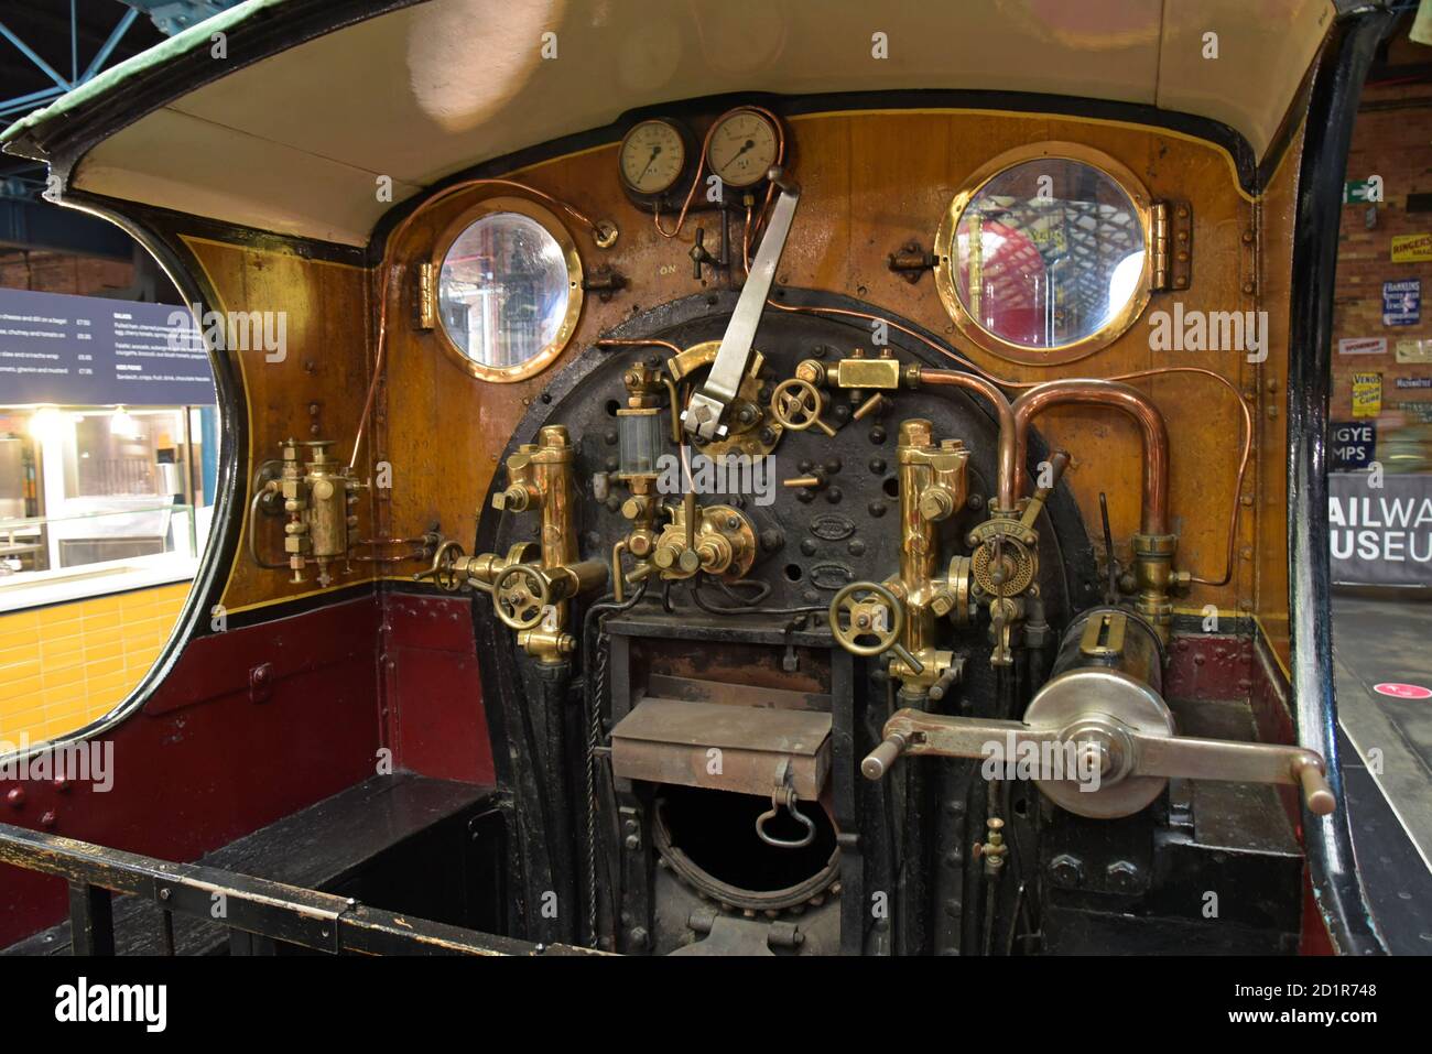
[(438, 332), (475, 377), (531, 377), (571, 339), (581, 259), (567, 229), (540, 205), (483, 202), (453, 223), (435, 262)]

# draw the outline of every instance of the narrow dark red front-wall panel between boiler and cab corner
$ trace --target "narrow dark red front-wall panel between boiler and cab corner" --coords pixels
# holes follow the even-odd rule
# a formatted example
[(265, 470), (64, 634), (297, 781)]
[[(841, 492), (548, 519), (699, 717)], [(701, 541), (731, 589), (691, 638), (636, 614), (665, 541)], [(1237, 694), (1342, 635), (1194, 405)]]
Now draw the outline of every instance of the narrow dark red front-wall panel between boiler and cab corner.
[(424, 776), (495, 782), (468, 597), (384, 596), (388, 742)]

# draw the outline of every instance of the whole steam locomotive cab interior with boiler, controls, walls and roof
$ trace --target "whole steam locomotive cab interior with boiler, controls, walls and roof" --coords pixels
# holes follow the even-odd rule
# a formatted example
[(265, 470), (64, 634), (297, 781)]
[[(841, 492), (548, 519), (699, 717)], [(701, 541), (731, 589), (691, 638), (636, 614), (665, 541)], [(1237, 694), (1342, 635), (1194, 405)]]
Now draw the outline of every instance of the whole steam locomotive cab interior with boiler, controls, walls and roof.
[[(231, 69), (136, 70), (143, 113), (7, 133), (200, 321), (289, 341), (215, 349), (221, 540), (80, 733), (189, 819), (136, 775), (19, 828), (49, 795), (57, 835), (504, 949), (1376, 947), (1289, 530), (1309, 113), (1365, 16), (1144, 4), (1095, 44), (969, 4), (937, 54), (919, 4), (576, 4), (520, 43), (292, 7), (299, 43), (255, 10)], [(455, 76), (494, 47), (510, 83)], [(361, 861), (272, 862), (359, 799)], [(64, 872), (3, 859), (7, 942), (79, 939)]]

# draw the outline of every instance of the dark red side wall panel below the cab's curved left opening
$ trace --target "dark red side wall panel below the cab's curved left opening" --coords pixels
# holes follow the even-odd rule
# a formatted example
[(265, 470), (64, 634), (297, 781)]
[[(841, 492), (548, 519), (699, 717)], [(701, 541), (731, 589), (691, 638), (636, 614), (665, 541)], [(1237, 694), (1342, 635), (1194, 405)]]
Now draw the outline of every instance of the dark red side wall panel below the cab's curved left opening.
[[(172, 861), (226, 845), (374, 773), (377, 642), (374, 597), (193, 640), (145, 706), (96, 740), (113, 749), (110, 790), (0, 780), (0, 816)], [(268, 697), (255, 702), (263, 664)], [(0, 947), (60, 921), (64, 905), (59, 879), (0, 866)]]

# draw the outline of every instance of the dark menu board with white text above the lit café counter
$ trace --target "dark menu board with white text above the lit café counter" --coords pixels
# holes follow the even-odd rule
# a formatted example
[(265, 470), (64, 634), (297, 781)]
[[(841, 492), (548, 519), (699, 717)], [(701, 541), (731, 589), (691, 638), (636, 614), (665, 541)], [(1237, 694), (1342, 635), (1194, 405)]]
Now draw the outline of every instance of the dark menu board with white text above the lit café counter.
[(206, 405), (209, 354), (178, 308), (0, 289), (0, 402)]

